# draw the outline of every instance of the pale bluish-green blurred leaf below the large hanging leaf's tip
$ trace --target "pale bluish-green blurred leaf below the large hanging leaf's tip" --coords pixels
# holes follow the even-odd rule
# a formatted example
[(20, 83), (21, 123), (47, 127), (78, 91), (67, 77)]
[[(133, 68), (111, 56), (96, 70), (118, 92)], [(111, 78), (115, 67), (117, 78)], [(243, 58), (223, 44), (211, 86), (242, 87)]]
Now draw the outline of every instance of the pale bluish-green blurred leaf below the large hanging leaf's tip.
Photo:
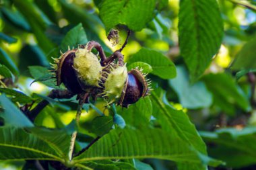
[(169, 83), (178, 94), (184, 108), (207, 108), (212, 104), (212, 94), (207, 91), (202, 81), (197, 81), (193, 85), (189, 83), (189, 74), (185, 67), (177, 67), (177, 77)]

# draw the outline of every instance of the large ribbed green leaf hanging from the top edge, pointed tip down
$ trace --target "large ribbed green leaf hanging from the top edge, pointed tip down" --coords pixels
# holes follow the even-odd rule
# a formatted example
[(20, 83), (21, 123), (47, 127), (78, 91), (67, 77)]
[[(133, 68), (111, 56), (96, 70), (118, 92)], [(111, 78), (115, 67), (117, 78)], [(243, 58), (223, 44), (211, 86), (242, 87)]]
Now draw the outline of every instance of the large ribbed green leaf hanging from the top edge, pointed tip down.
[(181, 56), (196, 81), (222, 42), (223, 23), (216, 0), (183, 0), (179, 9)]

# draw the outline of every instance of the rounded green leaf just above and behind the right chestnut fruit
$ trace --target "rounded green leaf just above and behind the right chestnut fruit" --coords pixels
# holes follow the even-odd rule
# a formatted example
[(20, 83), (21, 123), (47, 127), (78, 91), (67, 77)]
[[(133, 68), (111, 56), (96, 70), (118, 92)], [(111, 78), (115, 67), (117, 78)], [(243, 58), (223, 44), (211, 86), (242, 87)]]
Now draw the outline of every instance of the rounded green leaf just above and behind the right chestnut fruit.
[(176, 76), (176, 69), (171, 60), (162, 53), (147, 48), (141, 48), (139, 52), (133, 54), (128, 62), (146, 62), (153, 69), (153, 75), (157, 75), (162, 79), (171, 79)]

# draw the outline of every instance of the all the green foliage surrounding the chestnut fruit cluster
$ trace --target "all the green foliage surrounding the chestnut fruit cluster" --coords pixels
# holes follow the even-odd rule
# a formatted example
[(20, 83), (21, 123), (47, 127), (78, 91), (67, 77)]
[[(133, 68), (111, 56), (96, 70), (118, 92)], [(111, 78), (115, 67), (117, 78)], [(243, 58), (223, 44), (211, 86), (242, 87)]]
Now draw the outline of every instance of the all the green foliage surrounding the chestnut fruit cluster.
[[(0, 0), (0, 169), (256, 169), (255, 13), (255, 0)], [(110, 56), (127, 30), (127, 68), (152, 95), (90, 100), (76, 124), (76, 97), (47, 96), (65, 89), (50, 62), (91, 40)]]

